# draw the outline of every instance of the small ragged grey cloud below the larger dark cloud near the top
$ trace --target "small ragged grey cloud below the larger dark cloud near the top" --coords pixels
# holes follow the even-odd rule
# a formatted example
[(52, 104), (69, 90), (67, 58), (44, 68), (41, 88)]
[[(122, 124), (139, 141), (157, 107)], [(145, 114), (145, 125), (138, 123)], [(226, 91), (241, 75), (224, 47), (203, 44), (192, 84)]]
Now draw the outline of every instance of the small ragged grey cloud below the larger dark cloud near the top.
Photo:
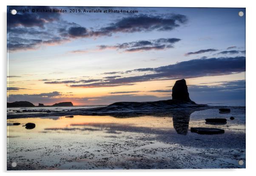
[(159, 38), (155, 40), (140, 40), (133, 42), (126, 42), (122, 44), (111, 45), (100, 45), (98, 46), (100, 50), (106, 49), (116, 49), (124, 50), (125, 52), (139, 52), (148, 50), (165, 50), (168, 48), (173, 48), (174, 43), (180, 41), (180, 38)]

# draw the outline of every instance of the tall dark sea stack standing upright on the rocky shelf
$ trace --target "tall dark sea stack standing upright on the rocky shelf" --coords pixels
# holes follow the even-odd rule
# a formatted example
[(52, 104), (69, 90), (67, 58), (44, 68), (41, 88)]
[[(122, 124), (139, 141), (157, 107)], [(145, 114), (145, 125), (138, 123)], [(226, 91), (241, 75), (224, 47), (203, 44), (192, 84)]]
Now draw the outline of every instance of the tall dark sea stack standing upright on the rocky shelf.
[(186, 80), (177, 80), (172, 88), (172, 99), (184, 102), (191, 102), (188, 93), (188, 86)]

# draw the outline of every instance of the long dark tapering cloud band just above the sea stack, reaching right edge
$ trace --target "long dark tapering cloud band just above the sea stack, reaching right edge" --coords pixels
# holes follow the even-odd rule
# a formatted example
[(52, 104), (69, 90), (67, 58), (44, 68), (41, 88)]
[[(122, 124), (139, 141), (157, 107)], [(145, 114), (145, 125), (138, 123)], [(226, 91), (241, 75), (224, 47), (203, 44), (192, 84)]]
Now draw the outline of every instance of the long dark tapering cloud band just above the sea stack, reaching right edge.
[[(134, 85), (136, 82), (153, 81), (153, 80), (176, 80), (182, 78), (195, 78), (205, 76), (226, 75), (245, 71), (245, 57), (235, 58), (209, 58), (194, 59), (183, 61), (168, 66), (156, 68), (144, 68), (125, 71), (151, 71), (151, 74), (140, 76), (122, 77), (116, 79), (103, 80), (91, 84), (70, 85), (71, 87), (113, 87), (120, 85)], [(116, 72), (120, 73), (120, 72)], [(109, 73), (108, 73), (109, 74)]]

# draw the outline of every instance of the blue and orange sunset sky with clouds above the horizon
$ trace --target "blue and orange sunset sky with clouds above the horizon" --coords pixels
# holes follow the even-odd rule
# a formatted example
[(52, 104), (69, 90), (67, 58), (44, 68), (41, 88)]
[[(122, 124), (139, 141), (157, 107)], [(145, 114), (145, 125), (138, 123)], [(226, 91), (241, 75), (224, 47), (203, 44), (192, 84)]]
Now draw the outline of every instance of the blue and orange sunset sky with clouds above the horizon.
[(157, 101), (171, 99), (175, 81), (185, 79), (197, 103), (245, 105), (245, 8), (7, 12), (7, 102)]

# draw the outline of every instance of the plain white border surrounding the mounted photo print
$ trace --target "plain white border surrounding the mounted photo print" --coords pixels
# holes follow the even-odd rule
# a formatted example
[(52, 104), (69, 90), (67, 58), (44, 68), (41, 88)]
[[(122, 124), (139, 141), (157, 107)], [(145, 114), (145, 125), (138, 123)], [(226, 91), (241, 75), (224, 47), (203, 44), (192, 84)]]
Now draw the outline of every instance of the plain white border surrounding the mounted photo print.
[[(1, 0), (1, 160), (0, 160), (0, 171), (4, 172), (4, 175), (14, 175), (17, 172), (6, 172), (6, 73), (7, 73), (7, 61), (6, 61), (6, 5), (58, 5), (58, 6), (147, 6), (147, 7), (245, 7), (246, 8), (246, 169), (202, 169), (202, 170), (66, 170), (66, 171), (26, 171), (18, 172), (19, 175), (34, 175), (37, 172), (38, 175), (54, 175), (61, 173), (63, 176), (74, 174), (78, 175), (141, 175), (147, 174), (149, 176), (155, 176), (158, 173), (161, 175), (189, 175), (198, 176), (216, 176), (218, 175), (251, 175), (255, 162), (255, 125), (256, 115), (254, 112), (255, 106), (255, 17), (256, 17), (256, 6), (253, 5), (253, 0)], [(255, 173), (254, 173), (255, 174)]]

